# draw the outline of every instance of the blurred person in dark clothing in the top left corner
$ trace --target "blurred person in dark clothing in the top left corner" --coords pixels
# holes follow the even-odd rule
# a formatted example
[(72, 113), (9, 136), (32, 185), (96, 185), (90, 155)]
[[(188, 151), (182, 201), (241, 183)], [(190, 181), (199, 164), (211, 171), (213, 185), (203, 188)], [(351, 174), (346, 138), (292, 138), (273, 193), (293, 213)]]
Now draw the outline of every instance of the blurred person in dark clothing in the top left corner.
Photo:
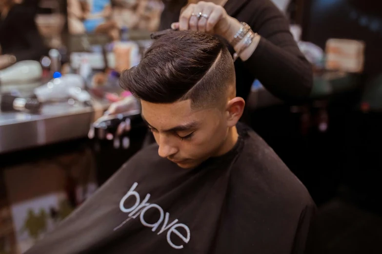
[(0, 69), (47, 54), (34, 12), (13, 0), (0, 0), (0, 12)]

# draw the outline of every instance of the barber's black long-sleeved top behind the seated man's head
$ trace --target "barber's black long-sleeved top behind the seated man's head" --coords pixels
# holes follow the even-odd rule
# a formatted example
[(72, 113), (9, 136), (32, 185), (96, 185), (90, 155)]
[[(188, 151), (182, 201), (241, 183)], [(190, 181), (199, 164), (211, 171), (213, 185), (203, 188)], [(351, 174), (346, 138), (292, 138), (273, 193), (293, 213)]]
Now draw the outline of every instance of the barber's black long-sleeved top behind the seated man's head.
[[(179, 20), (181, 7), (165, 6), (161, 29)], [(253, 81), (258, 79), (281, 99), (307, 97), (313, 85), (312, 67), (289, 32), (289, 23), (281, 11), (270, 0), (228, 0), (224, 8), (229, 16), (246, 22), (261, 35), (252, 56), (245, 62), (240, 58), (235, 62), (237, 95), (246, 99)]]

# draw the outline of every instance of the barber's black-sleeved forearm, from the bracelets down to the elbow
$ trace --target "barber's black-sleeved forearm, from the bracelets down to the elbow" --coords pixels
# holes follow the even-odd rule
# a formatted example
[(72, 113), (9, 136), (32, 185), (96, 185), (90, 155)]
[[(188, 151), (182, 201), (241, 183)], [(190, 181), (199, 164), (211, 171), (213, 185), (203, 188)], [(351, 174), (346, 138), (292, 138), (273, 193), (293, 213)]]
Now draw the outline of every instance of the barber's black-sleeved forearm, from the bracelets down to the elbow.
[(305, 58), (263, 37), (244, 65), (268, 91), (283, 100), (306, 98), (313, 86), (312, 67)]

